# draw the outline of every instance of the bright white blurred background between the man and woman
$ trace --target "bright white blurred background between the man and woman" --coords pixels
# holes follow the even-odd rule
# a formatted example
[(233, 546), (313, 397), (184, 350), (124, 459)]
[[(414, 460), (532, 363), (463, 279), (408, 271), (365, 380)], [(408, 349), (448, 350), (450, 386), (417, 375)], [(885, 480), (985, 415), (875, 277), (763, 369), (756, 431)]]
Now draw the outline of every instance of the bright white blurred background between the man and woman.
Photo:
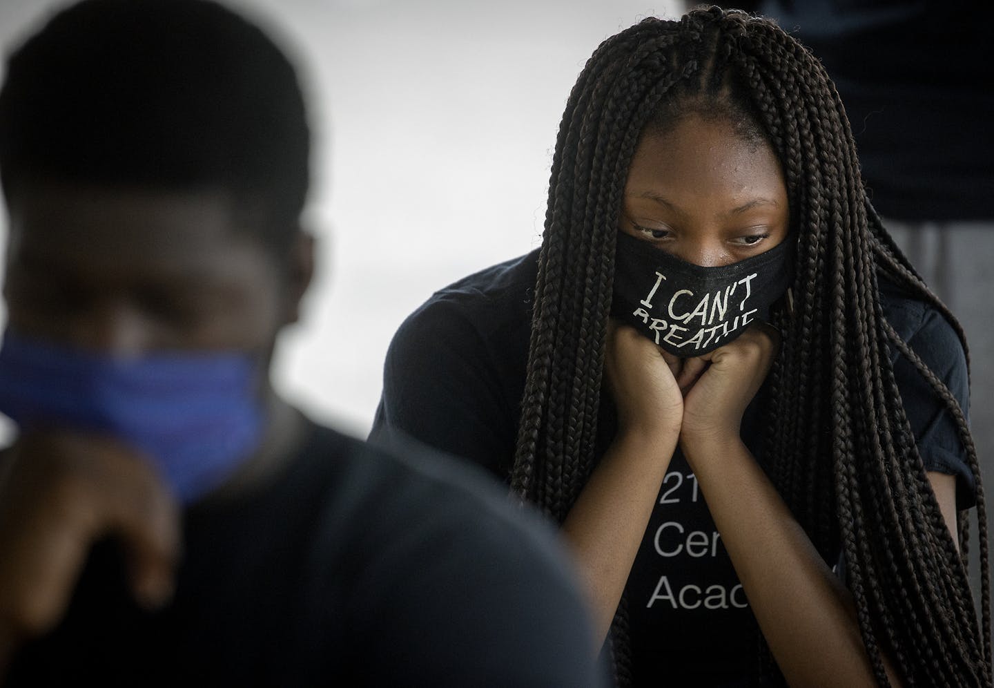
[[(61, 5), (0, 0), (3, 52)], [(275, 382), (315, 418), (365, 434), (405, 316), (434, 289), (539, 245), (560, 116), (586, 58), (677, 2), (230, 5), (295, 56), (317, 140), (308, 221), (320, 271)]]

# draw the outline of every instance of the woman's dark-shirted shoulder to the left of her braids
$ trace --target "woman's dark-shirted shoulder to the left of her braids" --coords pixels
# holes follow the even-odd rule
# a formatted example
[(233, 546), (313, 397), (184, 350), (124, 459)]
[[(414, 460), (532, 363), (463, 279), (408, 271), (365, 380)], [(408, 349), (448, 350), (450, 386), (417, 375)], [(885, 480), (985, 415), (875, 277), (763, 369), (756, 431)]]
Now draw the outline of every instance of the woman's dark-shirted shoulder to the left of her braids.
[(405, 433), (503, 479), (514, 453), (538, 252), (439, 289), (387, 350), (370, 437)]

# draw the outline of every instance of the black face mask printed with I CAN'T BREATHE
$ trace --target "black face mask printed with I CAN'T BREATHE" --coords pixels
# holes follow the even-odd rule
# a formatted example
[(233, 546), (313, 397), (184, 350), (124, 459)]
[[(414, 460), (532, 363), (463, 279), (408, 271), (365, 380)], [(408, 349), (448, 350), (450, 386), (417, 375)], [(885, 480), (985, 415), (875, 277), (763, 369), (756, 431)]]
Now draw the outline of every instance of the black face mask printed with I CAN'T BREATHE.
[(674, 356), (714, 351), (769, 317), (770, 305), (793, 281), (793, 243), (701, 267), (618, 232), (611, 315)]

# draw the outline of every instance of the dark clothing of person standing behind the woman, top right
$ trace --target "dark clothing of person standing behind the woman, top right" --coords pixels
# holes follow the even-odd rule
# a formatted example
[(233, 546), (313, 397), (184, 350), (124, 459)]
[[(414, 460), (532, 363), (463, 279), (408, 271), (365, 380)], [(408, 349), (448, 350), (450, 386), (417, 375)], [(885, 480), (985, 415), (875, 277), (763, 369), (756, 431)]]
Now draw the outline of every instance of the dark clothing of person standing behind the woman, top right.
[(775, 19), (824, 65), (882, 215), (994, 218), (994, 23), (986, 3), (749, 0), (745, 6)]

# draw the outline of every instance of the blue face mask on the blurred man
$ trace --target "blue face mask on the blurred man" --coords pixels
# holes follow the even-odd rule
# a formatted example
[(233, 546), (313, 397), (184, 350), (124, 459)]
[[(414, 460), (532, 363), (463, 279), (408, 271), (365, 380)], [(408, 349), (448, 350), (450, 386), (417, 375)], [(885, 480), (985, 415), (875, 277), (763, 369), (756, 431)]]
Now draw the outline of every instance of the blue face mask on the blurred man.
[(19, 336), (0, 348), (0, 413), (25, 430), (111, 434), (145, 453), (189, 503), (258, 447), (258, 367), (242, 354), (120, 359)]

